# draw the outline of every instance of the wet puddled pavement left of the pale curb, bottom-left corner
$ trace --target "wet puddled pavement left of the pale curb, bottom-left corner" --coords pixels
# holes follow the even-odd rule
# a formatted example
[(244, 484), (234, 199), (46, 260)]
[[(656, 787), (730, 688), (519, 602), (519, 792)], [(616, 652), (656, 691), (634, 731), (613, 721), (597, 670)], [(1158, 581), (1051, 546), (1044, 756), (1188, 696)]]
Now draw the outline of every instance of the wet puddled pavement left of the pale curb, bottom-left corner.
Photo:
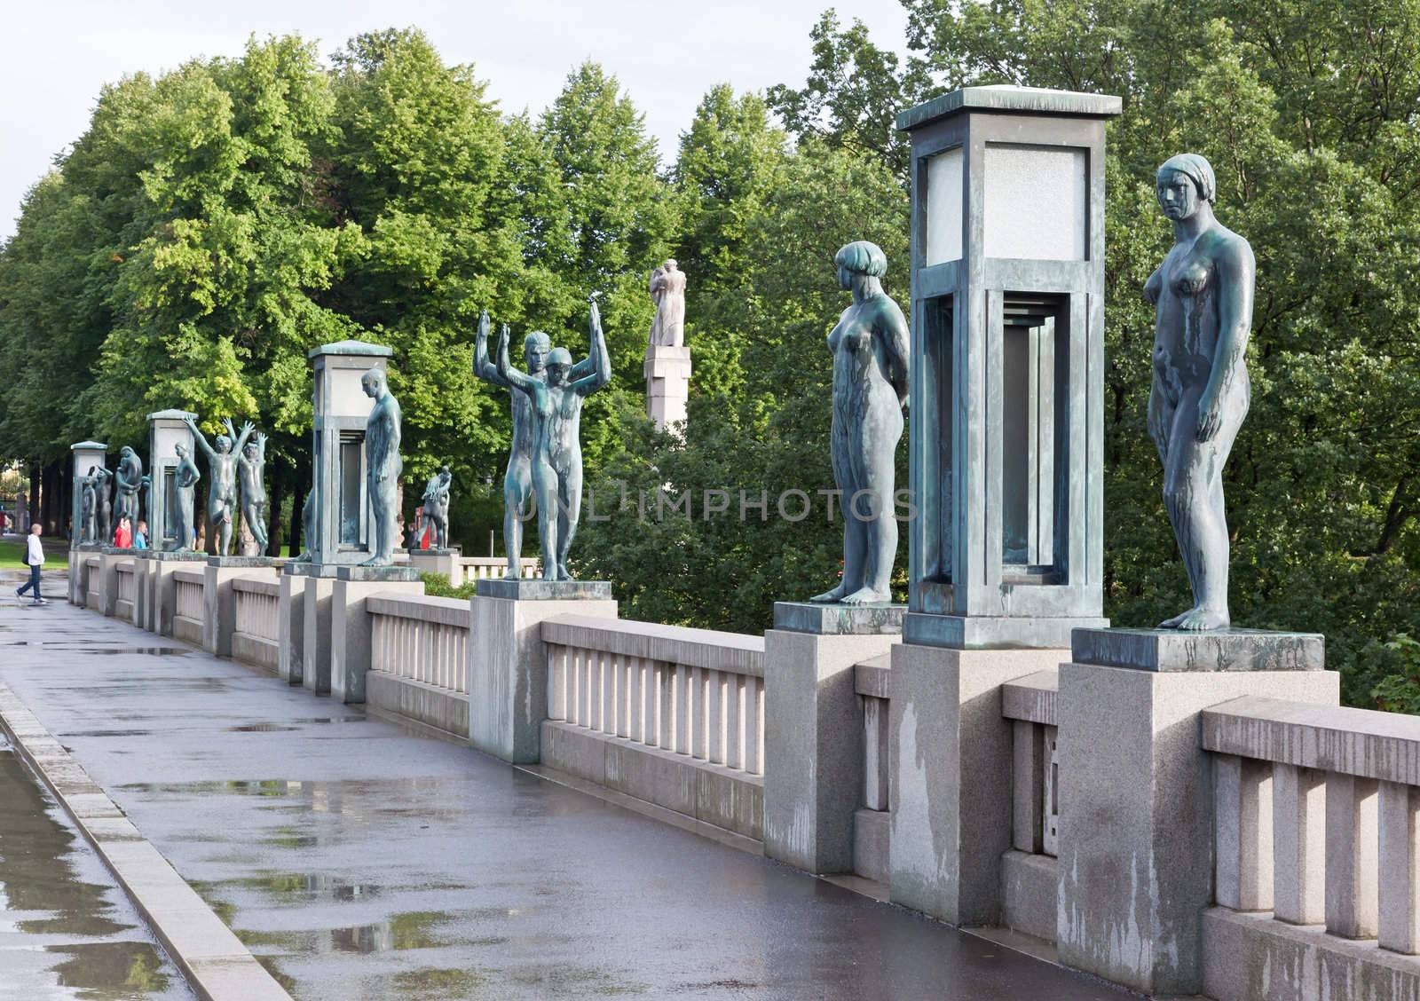
[(0, 970), (14, 997), (190, 998), (102, 863), (0, 741)]

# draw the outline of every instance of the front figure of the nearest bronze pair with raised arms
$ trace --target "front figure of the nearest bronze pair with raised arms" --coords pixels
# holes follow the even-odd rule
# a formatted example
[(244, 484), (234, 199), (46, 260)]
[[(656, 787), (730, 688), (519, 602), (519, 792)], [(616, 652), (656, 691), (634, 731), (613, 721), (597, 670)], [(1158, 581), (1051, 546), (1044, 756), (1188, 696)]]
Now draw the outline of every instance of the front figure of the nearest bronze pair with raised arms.
[(567, 554), (582, 508), (582, 400), (611, 382), (611, 358), (596, 302), (591, 308), (591, 375), (571, 378), (572, 355), (554, 348), (542, 379), (508, 365), (508, 329), (498, 338), (498, 375), (532, 403), (532, 490), (542, 541), (542, 579), (571, 581)]

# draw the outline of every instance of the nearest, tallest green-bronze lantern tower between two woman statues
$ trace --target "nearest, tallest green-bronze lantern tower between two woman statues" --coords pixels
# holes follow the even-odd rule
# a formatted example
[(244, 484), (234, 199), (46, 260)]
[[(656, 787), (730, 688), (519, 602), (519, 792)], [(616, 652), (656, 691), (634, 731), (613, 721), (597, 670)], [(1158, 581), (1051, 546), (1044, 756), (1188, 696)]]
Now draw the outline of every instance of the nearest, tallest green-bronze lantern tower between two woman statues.
[(912, 136), (903, 638), (1068, 647), (1102, 618), (1105, 122), (1116, 97), (968, 87)]

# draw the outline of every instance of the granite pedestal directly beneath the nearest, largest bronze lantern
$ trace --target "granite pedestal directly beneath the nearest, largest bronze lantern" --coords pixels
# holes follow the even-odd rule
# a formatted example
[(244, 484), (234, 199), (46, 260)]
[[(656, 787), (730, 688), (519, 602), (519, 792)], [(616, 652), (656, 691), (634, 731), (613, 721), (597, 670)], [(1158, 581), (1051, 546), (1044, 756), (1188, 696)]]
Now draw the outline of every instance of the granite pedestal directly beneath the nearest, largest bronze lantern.
[(1011, 720), (1001, 686), (1064, 649), (892, 650), (890, 897), (951, 924), (998, 924), (1011, 848)]

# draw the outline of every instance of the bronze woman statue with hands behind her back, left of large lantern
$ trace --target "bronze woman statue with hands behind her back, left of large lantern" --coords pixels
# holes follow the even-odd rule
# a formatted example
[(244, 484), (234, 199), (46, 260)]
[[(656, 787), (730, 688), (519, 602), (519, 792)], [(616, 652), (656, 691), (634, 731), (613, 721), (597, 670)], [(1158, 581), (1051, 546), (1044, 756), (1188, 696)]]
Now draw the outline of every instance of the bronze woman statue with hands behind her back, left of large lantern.
[(853, 304), (828, 335), (834, 355), (829, 452), (842, 493), (843, 578), (809, 601), (866, 605), (892, 601), (895, 454), (907, 402), (907, 321), (883, 291), (888, 258), (878, 244), (849, 243), (834, 264), (839, 287), (853, 294)]

